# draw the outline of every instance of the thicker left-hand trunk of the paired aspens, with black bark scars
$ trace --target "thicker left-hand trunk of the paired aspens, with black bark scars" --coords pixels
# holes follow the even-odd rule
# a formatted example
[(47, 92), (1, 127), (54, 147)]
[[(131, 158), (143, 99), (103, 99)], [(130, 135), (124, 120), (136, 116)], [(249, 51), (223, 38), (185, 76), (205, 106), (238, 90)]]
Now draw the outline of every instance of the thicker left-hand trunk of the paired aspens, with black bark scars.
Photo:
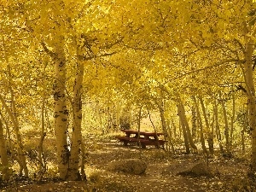
[(67, 144), (68, 110), (66, 90), (66, 60), (64, 49), (58, 48), (53, 58), (55, 61), (54, 104), (55, 104), (55, 138), (57, 142), (57, 164), (60, 178), (66, 179), (69, 162), (69, 145)]

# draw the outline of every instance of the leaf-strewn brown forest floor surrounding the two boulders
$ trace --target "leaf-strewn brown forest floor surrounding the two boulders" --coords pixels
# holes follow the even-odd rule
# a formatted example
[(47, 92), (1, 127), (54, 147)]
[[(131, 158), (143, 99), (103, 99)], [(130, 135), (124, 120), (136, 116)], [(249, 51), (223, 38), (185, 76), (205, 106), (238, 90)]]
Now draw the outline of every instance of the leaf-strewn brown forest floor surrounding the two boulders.
[[(205, 161), (200, 154), (169, 154), (163, 149), (123, 146), (116, 140), (86, 143), (88, 159), (86, 163), (87, 182), (44, 182), (11, 183), (0, 189), (11, 191), (256, 191), (255, 183), (247, 178), (248, 161), (238, 158), (214, 156), (208, 161), (212, 177), (180, 176), (186, 168)], [(147, 164), (143, 175), (123, 172), (109, 172), (107, 166), (113, 160), (142, 159)]]

